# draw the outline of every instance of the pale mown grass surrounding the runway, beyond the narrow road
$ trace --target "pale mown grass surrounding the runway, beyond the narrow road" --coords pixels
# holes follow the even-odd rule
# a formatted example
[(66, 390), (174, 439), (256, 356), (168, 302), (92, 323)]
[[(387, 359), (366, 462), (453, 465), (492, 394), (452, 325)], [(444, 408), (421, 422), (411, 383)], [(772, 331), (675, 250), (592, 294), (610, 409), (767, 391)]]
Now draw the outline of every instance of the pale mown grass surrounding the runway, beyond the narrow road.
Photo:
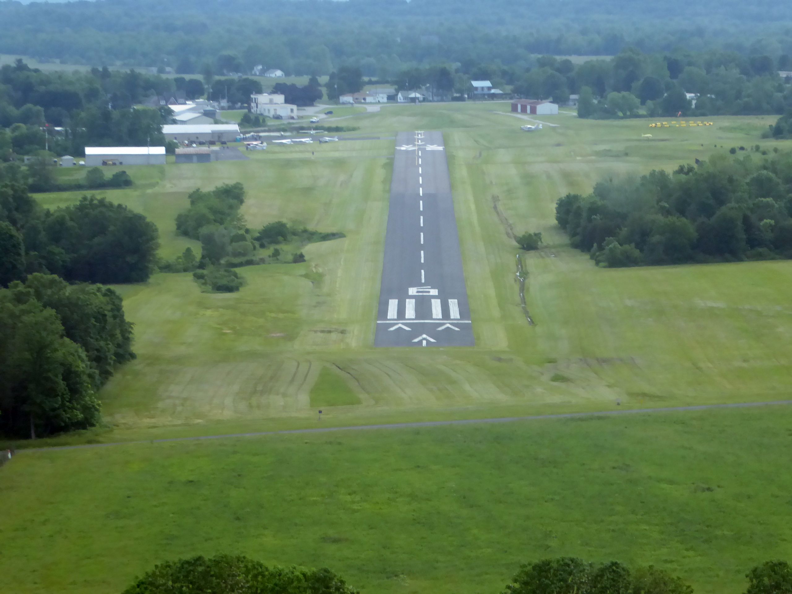
[[(164, 257), (198, 249), (173, 222), (188, 192), (234, 181), (246, 185), (251, 228), (283, 219), (347, 237), (307, 246), (306, 264), (244, 268), (248, 284), (234, 295), (202, 294), (189, 275), (119, 287), (139, 357), (101, 393), (105, 427), (65, 441), (310, 425), (325, 368), (359, 402), (334, 408), (327, 425), (786, 398), (789, 262), (601, 270), (554, 223), (566, 192), (763, 143), (771, 118), (714, 118), (710, 128), (642, 139), (646, 120), (565, 115), (543, 118), (558, 128), (527, 134), (522, 120), (497, 113), (508, 109), (389, 105), (354, 119), (361, 135), (444, 130), (475, 348), (372, 347), (392, 141), (272, 145), (246, 162), (128, 168), (133, 188), (99, 193), (154, 220)], [(524, 257), (533, 327), (520, 310), (510, 230), (545, 240)]]

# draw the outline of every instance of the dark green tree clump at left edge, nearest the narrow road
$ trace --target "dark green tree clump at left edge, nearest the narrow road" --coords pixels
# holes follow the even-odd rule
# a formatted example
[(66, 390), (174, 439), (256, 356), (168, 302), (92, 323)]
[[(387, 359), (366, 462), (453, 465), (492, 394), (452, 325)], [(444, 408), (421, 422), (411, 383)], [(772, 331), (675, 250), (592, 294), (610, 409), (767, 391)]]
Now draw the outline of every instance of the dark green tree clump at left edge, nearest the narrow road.
[(0, 289), (2, 432), (36, 438), (96, 425), (97, 390), (135, 357), (131, 341), (109, 287), (32, 274)]

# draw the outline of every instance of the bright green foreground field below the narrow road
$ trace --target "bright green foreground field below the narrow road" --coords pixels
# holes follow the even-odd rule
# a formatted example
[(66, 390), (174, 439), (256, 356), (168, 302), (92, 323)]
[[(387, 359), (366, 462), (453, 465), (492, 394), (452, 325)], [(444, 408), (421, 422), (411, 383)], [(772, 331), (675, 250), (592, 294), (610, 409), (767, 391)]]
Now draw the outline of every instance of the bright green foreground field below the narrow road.
[(22, 452), (0, 470), (0, 589), (120, 592), (224, 552), (364, 594), (501, 592), (560, 555), (737, 594), (792, 558), (790, 424), (781, 406)]

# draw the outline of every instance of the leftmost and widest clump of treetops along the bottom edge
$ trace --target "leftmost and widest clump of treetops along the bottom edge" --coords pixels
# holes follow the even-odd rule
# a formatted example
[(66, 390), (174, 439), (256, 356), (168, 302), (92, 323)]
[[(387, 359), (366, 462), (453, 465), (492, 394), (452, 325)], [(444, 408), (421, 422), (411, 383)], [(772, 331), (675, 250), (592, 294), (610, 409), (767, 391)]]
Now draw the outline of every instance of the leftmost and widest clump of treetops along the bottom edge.
[(246, 557), (194, 557), (156, 565), (124, 594), (357, 594), (329, 569), (267, 567)]

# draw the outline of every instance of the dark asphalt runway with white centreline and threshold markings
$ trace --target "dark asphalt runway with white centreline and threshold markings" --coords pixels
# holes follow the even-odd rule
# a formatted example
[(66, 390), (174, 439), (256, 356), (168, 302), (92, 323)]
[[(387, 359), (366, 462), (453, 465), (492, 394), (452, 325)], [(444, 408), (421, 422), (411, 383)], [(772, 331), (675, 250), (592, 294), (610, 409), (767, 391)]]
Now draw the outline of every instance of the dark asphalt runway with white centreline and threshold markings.
[(399, 132), (374, 345), (473, 346), (440, 132)]

